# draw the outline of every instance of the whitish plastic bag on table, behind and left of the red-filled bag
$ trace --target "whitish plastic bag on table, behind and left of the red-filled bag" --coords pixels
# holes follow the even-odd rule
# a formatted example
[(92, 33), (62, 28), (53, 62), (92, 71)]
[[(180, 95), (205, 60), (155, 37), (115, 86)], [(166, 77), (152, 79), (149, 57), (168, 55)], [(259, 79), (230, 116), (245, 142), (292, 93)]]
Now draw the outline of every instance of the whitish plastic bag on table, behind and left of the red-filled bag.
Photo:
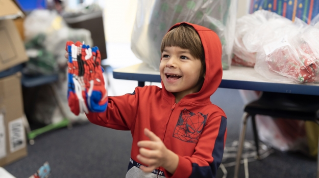
[[(263, 44), (284, 34), (282, 29), (280, 31), (277, 29), (291, 24), (290, 20), (265, 10), (259, 10), (237, 19), (233, 65), (253, 67), (256, 63), (256, 53), (262, 50)], [(276, 30), (278, 32), (274, 33)]]

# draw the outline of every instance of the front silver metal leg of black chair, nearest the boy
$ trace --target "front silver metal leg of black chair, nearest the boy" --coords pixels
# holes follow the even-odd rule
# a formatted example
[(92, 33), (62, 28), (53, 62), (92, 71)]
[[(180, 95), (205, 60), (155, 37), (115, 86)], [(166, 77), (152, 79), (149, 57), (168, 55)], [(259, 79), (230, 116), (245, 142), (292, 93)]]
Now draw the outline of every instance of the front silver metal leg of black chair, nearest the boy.
[(244, 112), (242, 115), (242, 126), (240, 129), (240, 135), (239, 135), (239, 140), (238, 140), (234, 178), (238, 178), (240, 159), (241, 159), (241, 154), (242, 154), (242, 149), (243, 149), (243, 143), (245, 140), (248, 117), (249, 117), (249, 113)]

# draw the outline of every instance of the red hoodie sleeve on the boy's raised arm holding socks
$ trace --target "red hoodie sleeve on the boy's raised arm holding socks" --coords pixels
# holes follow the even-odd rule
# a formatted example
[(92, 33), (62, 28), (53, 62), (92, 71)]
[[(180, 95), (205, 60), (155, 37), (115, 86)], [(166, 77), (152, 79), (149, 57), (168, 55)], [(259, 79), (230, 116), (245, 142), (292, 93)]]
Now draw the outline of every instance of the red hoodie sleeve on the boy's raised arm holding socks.
[(88, 120), (96, 125), (116, 130), (131, 130), (138, 108), (138, 94), (141, 87), (136, 87), (132, 94), (108, 97), (105, 112), (89, 112)]

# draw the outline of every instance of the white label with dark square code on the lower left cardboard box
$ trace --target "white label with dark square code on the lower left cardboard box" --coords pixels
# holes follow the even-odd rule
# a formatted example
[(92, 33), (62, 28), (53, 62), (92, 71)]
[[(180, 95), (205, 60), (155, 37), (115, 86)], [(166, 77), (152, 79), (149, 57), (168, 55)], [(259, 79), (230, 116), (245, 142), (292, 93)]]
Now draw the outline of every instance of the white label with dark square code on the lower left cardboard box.
[(24, 133), (22, 117), (9, 122), (8, 127), (10, 152), (13, 153), (26, 146), (26, 134)]

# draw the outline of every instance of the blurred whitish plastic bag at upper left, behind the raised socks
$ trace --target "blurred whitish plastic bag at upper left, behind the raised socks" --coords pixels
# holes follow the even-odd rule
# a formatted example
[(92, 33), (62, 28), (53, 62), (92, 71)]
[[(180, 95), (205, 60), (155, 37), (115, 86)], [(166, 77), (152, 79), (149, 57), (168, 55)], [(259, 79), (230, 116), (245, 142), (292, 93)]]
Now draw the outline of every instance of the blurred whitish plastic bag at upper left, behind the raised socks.
[(93, 44), (90, 31), (68, 27), (56, 11), (34, 10), (26, 17), (23, 25), (26, 42), (42, 35), (43, 41), (40, 47), (53, 54), (55, 63), (59, 66), (65, 67), (67, 64), (64, 57), (67, 41), (85, 41), (90, 46)]

